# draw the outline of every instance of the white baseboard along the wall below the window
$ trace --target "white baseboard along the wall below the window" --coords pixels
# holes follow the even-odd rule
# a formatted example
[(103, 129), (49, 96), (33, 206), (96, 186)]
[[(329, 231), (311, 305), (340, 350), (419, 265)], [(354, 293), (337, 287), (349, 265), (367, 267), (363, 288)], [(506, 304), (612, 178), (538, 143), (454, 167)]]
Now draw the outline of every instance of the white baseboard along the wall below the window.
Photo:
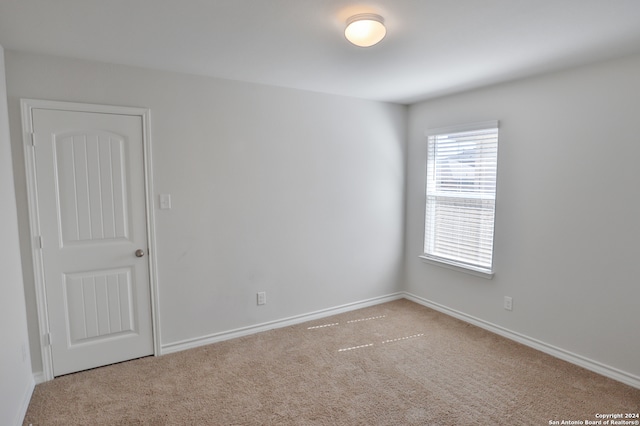
[(412, 302), (416, 302), (420, 305), (442, 312), (446, 315), (452, 316), (459, 320), (476, 325), (487, 331), (498, 334), (502, 337), (506, 337), (507, 339), (516, 341), (518, 343), (522, 343), (523, 345), (529, 346), (533, 349), (539, 350), (548, 355), (559, 358), (563, 361), (567, 361), (567, 362), (570, 362), (571, 364), (575, 364), (587, 370), (593, 371), (594, 373), (598, 373), (602, 376), (608, 377), (613, 380), (617, 380), (618, 382), (622, 382), (626, 385), (640, 389), (640, 377), (635, 376), (633, 374), (627, 373), (625, 371), (619, 370), (614, 367), (610, 367), (598, 361), (585, 358), (581, 355), (575, 354), (573, 352), (569, 352), (562, 348), (549, 345), (548, 343), (531, 338), (529, 336), (525, 336), (524, 334), (517, 333), (515, 331), (511, 331), (509, 329), (490, 323), (488, 321), (481, 320), (471, 315), (467, 315), (463, 312), (456, 311), (455, 309), (448, 308), (444, 305), (441, 305), (436, 302), (432, 302), (430, 300), (424, 299), (414, 294), (403, 292), (403, 296), (405, 299), (411, 300)]

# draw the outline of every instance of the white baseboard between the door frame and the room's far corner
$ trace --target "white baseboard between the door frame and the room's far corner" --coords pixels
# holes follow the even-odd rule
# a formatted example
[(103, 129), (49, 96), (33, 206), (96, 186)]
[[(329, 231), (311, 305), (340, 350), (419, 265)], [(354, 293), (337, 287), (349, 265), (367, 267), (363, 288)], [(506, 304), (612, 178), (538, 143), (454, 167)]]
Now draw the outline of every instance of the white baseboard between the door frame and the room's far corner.
[(380, 303), (391, 302), (392, 300), (398, 300), (404, 297), (405, 296), (403, 293), (393, 293), (386, 296), (374, 297), (372, 299), (367, 299), (360, 302), (348, 303), (346, 305), (341, 305), (334, 308), (322, 309), (307, 314), (283, 318), (281, 320), (270, 321), (229, 331), (223, 331), (220, 333), (182, 340), (179, 342), (167, 343), (166, 345), (160, 346), (160, 355), (197, 348), (199, 346), (209, 345), (211, 343), (221, 342), (223, 340), (235, 339), (236, 337), (247, 336), (250, 334), (260, 333), (262, 331), (272, 330), (275, 328), (288, 327), (290, 325), (296, 325), (306, 321), (312, 321), (331, 315), (341, 314), (343, 312), (354, 311), (356, 309), (366, 308), (373, 305), (379, 305)]

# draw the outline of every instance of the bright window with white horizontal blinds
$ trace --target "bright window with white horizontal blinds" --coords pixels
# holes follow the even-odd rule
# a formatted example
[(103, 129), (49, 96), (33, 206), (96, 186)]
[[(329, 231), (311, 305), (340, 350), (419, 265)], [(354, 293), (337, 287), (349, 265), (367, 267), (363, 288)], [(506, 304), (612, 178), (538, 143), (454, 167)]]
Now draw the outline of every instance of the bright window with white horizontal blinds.
[(427, 136), (421, 257), (491, 277), (498, 122), (433, 129)]

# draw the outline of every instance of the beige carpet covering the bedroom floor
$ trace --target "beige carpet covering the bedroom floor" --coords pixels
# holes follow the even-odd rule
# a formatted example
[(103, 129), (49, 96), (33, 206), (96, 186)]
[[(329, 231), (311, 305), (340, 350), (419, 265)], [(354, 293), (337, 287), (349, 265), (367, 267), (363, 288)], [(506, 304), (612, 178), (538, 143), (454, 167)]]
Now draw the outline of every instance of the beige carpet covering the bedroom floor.
[(57, 378), (25, 425), (548, 425), (640, 390), (407, 300)]

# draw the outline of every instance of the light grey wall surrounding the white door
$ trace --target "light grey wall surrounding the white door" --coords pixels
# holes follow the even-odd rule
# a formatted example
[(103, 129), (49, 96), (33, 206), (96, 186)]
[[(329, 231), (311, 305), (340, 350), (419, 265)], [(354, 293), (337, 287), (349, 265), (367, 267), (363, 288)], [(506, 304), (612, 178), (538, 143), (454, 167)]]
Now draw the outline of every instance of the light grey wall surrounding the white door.
[(151, 108), (163, 345), (399, 289), (405, 107), (12, 51), (7, 87), (22, 238), (19, 98)]

